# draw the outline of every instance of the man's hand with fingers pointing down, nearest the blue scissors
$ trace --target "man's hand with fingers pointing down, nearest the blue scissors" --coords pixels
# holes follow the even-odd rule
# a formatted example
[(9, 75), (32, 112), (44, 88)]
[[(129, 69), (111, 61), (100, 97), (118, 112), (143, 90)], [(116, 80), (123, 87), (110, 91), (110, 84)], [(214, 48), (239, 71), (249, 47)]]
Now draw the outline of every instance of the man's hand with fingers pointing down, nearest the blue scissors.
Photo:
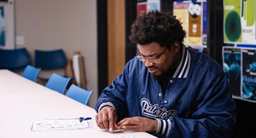
[(105, 129), (109, 128), (110, 131), (114, 128), (118, 128), (116, 125), (117, 115), (116, 110), (111, 106), (102, 107), (99, 113), (96, 114), (96, 123), (99, 128)]

